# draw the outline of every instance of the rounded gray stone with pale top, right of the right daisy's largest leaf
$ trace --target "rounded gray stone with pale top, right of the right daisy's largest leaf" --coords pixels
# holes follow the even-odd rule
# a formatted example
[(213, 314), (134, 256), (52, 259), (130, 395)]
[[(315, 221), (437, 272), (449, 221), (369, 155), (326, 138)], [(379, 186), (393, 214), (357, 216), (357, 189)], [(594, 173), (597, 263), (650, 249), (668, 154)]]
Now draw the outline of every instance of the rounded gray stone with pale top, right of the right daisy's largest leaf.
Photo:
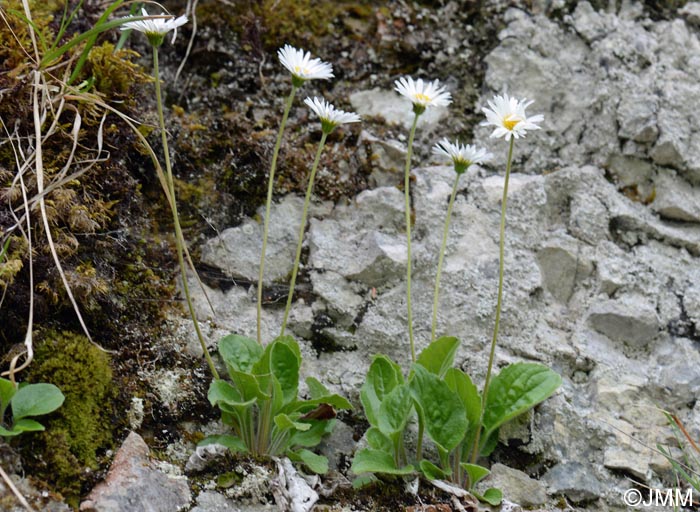
[(654, 306), (644, 297), (634, 295), (595, 304), (588, 323), (608, 338), (632, 345), (649, 343), (660, 328)]

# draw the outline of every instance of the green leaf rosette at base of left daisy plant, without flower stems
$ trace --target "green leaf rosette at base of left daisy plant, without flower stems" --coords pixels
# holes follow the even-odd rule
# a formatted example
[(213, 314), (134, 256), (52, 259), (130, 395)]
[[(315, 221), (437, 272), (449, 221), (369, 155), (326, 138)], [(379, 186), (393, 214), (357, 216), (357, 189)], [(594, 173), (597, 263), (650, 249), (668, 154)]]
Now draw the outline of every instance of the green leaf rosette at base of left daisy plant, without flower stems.
[(210, 436), (200, 446), (216, 443), (234, 453), (285, 455), (315, 473), (325, 473), (328, 460), (306, 448), (318, 445), (332, 430), (336, 409), (351, 406), (313, 377), (306, 379), (310, 398), (299, 398), (297, 342), (280, 336), (263, 348), (253, 339), (232, 334), (219, 342), (219, 354), (230, 381), (212, 382), (208, 397), (233, 434)]

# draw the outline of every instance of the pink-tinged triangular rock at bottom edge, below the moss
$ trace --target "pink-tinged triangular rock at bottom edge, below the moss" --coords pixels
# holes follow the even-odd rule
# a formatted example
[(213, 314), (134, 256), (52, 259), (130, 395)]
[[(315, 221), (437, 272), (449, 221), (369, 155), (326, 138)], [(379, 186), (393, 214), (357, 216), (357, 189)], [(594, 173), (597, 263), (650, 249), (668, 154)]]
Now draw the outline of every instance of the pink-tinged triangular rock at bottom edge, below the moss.
[(104, 482), (80, 504), (81, 512), (175, 512), (190, 504), (187, 478), (160, 471), (137, 433), (126, 438)]

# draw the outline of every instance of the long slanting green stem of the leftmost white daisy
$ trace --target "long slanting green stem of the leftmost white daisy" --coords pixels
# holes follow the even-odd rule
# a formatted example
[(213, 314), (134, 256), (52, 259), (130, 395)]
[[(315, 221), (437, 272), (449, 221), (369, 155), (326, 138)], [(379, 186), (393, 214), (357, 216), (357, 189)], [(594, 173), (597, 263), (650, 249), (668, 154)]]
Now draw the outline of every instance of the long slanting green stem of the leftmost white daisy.
[(215, 379), (219, 378), (219, 372), (216, 371), (214, 366), (214, 361), (209, 354), (207, 349), (207, 344), (204, 341), (204, 336), (199, 328), (199, 322), (197, 322), (197, 315), (194, 311), (194, 305), (192, 304), (192, 297), (190, 296), (190, 288), (187, 284), (187, 267), (185, 266), (185, 260), (183, 257), (183, 245), (185, 238), (182, 236), (182, 228), (180, 227), (180, 217), (177, 213), (177, 201), (175, 199), (175, 183), (173, 180), (173, 168), (170, 164), (170, 150), (168, 149), (168, 136), (165, 131), (165, 118), (163, 116), (163, 98), (160, 92), (160, 70), (158, 68), (158, 47), (153, 46), (153, 73), (156, 79), (156, 104), (158, 106), (158, 121), (160, 122), (160, 134), (163, 141), (163, 153), (165, 155), (165, 171), (166, 178), (168, 182), (168, 190), (170, 191), (170, 199), (172, 204), (171, 210), (173, 212), (173, 224), (175, 225), (175, 247), (177, 248), (177, 261), (180, 265), (180, 272), (182, 274), (182, 289), (185, 292), (185, 298), (187, 299), (187, 307), (190, 311), (190, 316), (192, 317), (192, 322), (194, 323), (194, 329), (197, 332), (197, 338), (199, 338), (199, 343), (202, 346), (202, 352), (204, 352), (204, 357), (209, 365), (209, 370)]

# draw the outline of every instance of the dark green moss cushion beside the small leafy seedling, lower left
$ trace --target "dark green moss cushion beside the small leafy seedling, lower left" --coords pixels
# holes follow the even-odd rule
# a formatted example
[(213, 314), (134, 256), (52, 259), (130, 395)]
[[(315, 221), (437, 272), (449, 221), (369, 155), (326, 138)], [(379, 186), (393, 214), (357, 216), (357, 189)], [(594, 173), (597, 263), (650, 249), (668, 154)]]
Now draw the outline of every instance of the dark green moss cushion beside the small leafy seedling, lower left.
[[(107, 354), (85, 336), (47, 331), (36, 346), (27, 380), (50, 382), (66, 397), (43, 422), (46, 431), (28, 436), (23, 448), (29, 471), (76, 504), (98, 454), (113, 446), (115, 390)], [(24, 441), (24, 440), (22, 440)]]

